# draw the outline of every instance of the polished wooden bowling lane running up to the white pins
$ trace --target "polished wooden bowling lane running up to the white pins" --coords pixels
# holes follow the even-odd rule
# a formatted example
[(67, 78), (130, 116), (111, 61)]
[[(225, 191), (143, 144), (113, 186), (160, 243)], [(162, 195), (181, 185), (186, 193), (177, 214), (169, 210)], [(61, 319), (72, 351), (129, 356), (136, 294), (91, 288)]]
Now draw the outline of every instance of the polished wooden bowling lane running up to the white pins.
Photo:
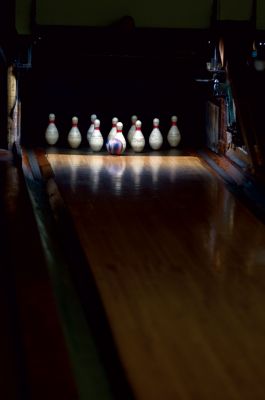
[(263, 399), (265, 226), (197, 156), (47, 158), (135, 398)]

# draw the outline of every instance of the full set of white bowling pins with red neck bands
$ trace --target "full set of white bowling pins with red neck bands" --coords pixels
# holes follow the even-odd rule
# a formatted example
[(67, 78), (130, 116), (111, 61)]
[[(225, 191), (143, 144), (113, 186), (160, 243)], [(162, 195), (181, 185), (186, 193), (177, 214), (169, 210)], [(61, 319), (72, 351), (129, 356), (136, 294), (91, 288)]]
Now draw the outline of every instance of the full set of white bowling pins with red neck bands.
[[(142, 123), (138, 120), (136, 115), (131, 117), (131, 128), (127, 134), (127, 141), (135, 152), (143, 151), (145, 147), (145, 137), (142, 133)], [(121, 143), (120, 153), (126, 149), (126, 139), (123, 135), (123, 124), (118, 121), (118, 118), (112, 119), (112, 128), (108, 134), (107, 144), (112, 144), (115, 147), (115, 142)], [(45, 132), (45, 138), (48, 144), (54, 145), (59, 139), (59, 132), (55, 125), (55, 115), (49, 115), (49, 125)], [(78, 129), (78, 118), (72, 118), (72, 128), (68, 133), (68, 143), (73, 149), (80, 146), (82, 141), (81, 133)], [(87, 140), (92, 151), (98, 152), (102, 149), (104, 144), (103, 136), (100, 132), (100, 120), (97, 119), (95, 114), (91, 115), (91, 125), (87, 131)], [(181, 140), (180, 131), (177, 127), (177, 117), (171, 117), (171, 127), (167, 134), (167, 141), (171, 147), (177, 147)], [(117, 143), (116, 143), (117, 144)], [(159, 129), (159, 119), (153, 120), (153, 129), (149, 135), (149, 145), (153, 150), (158, 150), (163, 144), (163, 136)], [(107, 145), (107, 149), (111, 146)]]

